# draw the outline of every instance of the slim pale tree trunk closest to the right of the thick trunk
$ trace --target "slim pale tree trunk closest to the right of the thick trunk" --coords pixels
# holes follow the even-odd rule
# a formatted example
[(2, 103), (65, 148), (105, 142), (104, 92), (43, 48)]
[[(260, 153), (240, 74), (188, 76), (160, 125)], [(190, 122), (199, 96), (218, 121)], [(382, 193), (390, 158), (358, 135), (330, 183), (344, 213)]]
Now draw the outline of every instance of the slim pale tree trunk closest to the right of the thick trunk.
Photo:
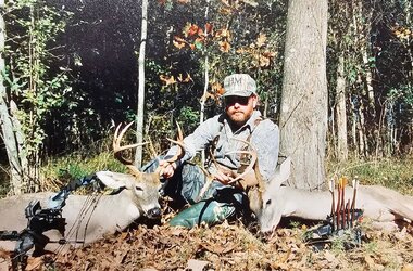
[(336, 85), (336, 120), (337, 120), (337, 159), (346, 162), (349, 157), (347, 144), (347, 114), (346, 114), (346, 75), (343, 53), (338, 57)]

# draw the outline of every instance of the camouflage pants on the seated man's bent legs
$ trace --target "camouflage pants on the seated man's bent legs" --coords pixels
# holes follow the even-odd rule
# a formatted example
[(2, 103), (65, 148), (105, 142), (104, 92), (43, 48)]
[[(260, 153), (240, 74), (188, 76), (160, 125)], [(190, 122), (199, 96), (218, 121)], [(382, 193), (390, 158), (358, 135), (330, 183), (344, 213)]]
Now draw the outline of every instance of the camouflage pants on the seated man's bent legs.
[[(159, 158), (155, 158), (143, 166), (142, 171), (153, 172), (158, 165)], [(217, 181), (213, 181), (203, 197), (198, 198), (205, 181), (206, 176), (203, 171), (189, 163), (184, 163), (170, 180), (165, 180), (164, 195), (191, 205), (175, 216), (170, 224), (186, 228), (192, 228), (201, 222), (213, 224), (246, 210), (245, 193)]]

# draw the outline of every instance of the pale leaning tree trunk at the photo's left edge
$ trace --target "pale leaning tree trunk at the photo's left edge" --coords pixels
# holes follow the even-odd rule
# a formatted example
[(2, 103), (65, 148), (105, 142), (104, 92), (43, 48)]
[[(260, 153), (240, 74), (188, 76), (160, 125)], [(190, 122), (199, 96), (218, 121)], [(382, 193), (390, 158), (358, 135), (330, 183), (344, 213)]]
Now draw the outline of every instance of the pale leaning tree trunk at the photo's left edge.
[[(0, 8), (4, 8), (4, 2), (0, 2)], [(3, 16), (0, 14), (0, 73), (5, 74), (4, 65), (4, 40), (5, 40), (5, 24)], [(4, 142), (5, 151), (10, 164), (10, 183), (13, 194), (21, 194), (24, 183), (23, 167), (20, 160), (18, 142), (16, 138), (16, 129), (11, 115), (10, 101), (3, 83), (3, 77), (0, 76), (0, 119), (1, 119), (1, 137)]]

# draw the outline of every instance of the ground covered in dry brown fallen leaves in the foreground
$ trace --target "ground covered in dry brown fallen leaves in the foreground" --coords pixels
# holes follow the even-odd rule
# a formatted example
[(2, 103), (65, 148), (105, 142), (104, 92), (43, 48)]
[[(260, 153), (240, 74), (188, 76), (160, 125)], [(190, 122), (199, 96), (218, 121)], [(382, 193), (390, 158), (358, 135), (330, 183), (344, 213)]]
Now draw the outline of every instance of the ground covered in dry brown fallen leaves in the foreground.
[(306, 230), (292, 222), (264, 236), (241, 221), (190, 230), (139, 224), (65, 254), (29, 258), (26, 270), (413, 270), (410, 225), (383, 232), (366, 222), (360, 245), (346, 248), (353, 240), (333, 237), (318, 251), (304, 242)]

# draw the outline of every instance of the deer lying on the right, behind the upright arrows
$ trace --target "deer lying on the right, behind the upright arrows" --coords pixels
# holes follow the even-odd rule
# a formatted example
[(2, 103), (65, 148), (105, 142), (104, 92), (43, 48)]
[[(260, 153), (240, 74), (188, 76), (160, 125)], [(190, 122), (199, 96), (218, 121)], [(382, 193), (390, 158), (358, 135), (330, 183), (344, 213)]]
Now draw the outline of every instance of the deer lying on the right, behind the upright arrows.
[[(324, 220), (331, 212), (333, 190), (310, 192), (306, 190), (281, 186), (290, 173), (291, 160), (287, 158), (277, 170), (273, 180), (264, 182), (259, 178), (258, 188), (248, 193), (250, 208), (256, 216), (262, 232), (276, 229), (283, 217), (297, 217), (309, 220)], [(255, 168), (256, 169), (256, 168)], [(413, 221), (413, 198), (379, 185), (359, 185), (355, 208), (364, 211), (376, 229), (396, 229), (400, 222)], [(353, 189), (346, 188), (345, 203), (352, 199)]]

